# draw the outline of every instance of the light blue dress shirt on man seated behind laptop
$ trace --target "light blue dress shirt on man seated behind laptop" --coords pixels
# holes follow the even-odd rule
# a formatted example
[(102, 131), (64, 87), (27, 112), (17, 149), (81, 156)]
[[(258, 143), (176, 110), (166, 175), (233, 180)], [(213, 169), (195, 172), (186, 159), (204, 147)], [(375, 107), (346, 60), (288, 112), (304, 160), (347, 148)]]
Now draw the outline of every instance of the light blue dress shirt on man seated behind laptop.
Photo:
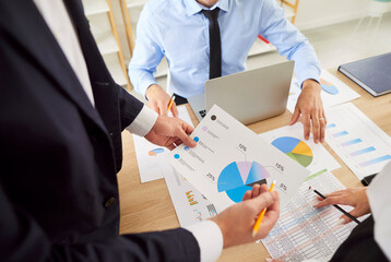
[[(301, 83), (319, 82), (320, 64), (308, 39), (285, 17), (275, 0), (220, 0), (218, 25), (222, 39), (222, 74), (246, 69), (247, 55), (258, 34), (272, 43), (280, 55), (295, 60)], [(209, 80), (208, 9), (196, 0), (150, 0), (141, 12), (129, 76), (137, 92), (145, 95), (155, 84), (154, 72), (165, 56), (170, 90), (183, 97), (204, 92)]]

